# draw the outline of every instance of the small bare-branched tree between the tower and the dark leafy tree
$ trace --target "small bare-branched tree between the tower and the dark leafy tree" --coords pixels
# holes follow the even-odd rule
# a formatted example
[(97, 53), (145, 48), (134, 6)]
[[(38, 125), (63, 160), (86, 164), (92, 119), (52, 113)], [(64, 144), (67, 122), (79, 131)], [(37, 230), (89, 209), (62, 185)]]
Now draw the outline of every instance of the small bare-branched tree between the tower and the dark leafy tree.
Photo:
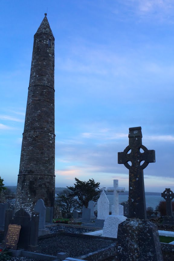
[(62, 192), (57, 194), (55, 204), (60, 208), (60, 211), (64, 213), (72, 212), (79, 208), (72, 191), (69, 189), (64, 189)]

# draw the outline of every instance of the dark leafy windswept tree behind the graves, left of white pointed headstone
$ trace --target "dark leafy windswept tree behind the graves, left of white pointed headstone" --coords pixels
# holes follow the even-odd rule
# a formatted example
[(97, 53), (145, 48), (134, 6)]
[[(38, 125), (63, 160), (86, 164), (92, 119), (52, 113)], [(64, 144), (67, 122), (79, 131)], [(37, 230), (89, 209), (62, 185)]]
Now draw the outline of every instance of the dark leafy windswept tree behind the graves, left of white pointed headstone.
[(96, 202), (100, 196), (101, 189), (99, 189), (99, 182), (94, 181), (94, 179), (89, 179), (88, 181), (81, 181), (75, 178), (76, 183), (74, 187), (67, 187), (72, 191), (73, 197), (75, 197), (76, 202), (82, 209), (84, 205), (88, 208), (88, 203), (90, 200)]

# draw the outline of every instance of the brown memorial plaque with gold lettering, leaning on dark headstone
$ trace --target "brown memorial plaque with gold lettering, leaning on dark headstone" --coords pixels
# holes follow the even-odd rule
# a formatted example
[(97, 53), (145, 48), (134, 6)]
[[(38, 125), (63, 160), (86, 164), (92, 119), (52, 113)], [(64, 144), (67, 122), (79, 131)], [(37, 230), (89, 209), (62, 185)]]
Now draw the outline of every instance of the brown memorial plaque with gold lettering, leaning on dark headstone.
[(21, 225), (9, 224), (5, 237), (5, 247), (17, 250)]

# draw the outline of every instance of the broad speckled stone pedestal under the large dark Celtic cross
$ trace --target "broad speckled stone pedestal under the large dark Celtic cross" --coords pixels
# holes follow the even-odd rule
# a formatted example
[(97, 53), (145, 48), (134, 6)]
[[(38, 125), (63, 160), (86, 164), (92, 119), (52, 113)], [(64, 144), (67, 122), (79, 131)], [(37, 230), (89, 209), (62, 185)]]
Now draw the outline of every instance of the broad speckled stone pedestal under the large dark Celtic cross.
[(127, 219), (118, 225), (116, 259), (163, 261), (158, 228), (149, 220)]

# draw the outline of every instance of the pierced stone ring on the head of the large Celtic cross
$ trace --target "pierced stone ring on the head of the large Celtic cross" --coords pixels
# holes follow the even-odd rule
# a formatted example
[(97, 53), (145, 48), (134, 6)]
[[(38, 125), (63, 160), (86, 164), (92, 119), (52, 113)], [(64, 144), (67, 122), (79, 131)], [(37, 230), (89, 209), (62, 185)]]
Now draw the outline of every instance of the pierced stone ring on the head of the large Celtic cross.
[[(140, 152), (140, 149), (143, 150), (143, 152)], [(131, 151), (130, 153), (128, 153), (129, 151)], [(138, 148), (137, 150), (137, 155), (138, 155), (138, 159), (137, 159), (137, 162), (136, 162), (136, 165), (134, 164), (133, 165), (133, 155), (132, 155), (132, 150), (131, 150), (131, 147), (130, 146), (127, 146), (124, 150), (124, 155), (125, 155), (125, 158), (126, 158), (126, 163), (124, 163), (124, 166), (127, 168), (127, 169), (131, 169), (131, 168), (138, 168), (138, 169), (145, 169), (149, 162), (146, 161), (146, 153), (148, 153), (148, 149), (144, 146), (144, 145), (140, 145), (140, 147)], [(131, 166), (129, 165), (128, 162), (131, 162)], [(140, 163), (143, 162), (142, 165), (140, 165)]]

